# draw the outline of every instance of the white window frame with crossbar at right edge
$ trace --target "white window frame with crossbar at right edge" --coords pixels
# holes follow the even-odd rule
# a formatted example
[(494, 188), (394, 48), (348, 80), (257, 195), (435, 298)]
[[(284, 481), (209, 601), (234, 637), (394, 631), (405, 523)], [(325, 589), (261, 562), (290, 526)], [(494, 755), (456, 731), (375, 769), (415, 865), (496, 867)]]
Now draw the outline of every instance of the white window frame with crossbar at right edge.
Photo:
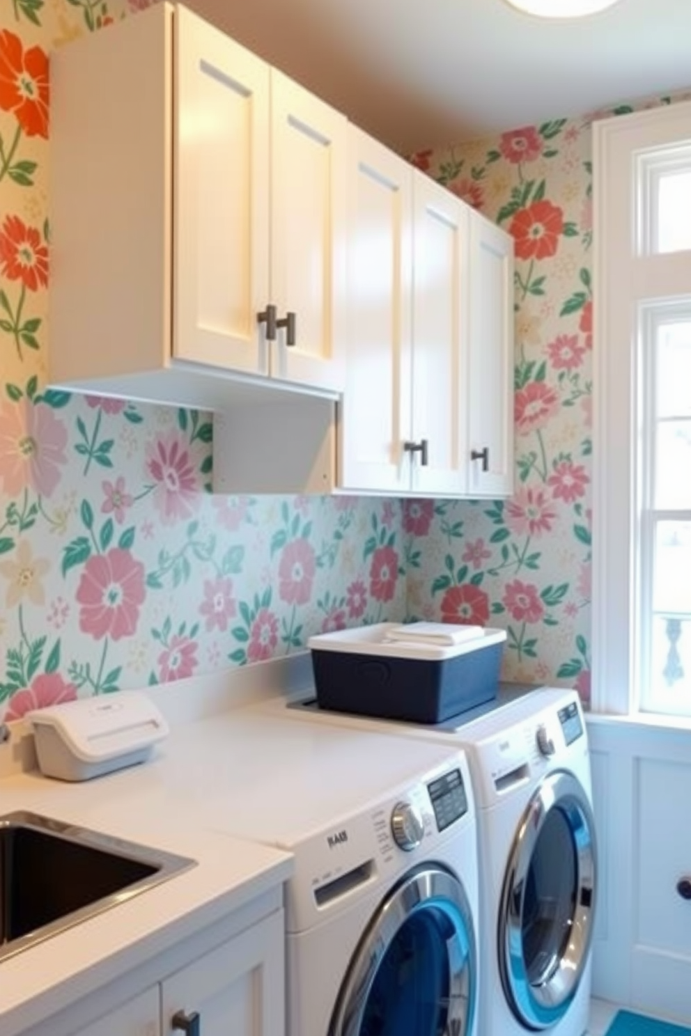
[[(691, 103), (596, 122), (594, 159), (594, 496), (592, 707), (621, 715), (641, 707), (635, 643), (646, 490), (639, 427), (639, 314), (691, 295), (691, 250), (653, 252), (644, 204), (659, 176), (691, 147)], [(657, 152), (664, 152), (658, 159)], [(653, 306), (653, 300), (655, 306)], [(659, 300), (659, 301), (658, 301)]]

